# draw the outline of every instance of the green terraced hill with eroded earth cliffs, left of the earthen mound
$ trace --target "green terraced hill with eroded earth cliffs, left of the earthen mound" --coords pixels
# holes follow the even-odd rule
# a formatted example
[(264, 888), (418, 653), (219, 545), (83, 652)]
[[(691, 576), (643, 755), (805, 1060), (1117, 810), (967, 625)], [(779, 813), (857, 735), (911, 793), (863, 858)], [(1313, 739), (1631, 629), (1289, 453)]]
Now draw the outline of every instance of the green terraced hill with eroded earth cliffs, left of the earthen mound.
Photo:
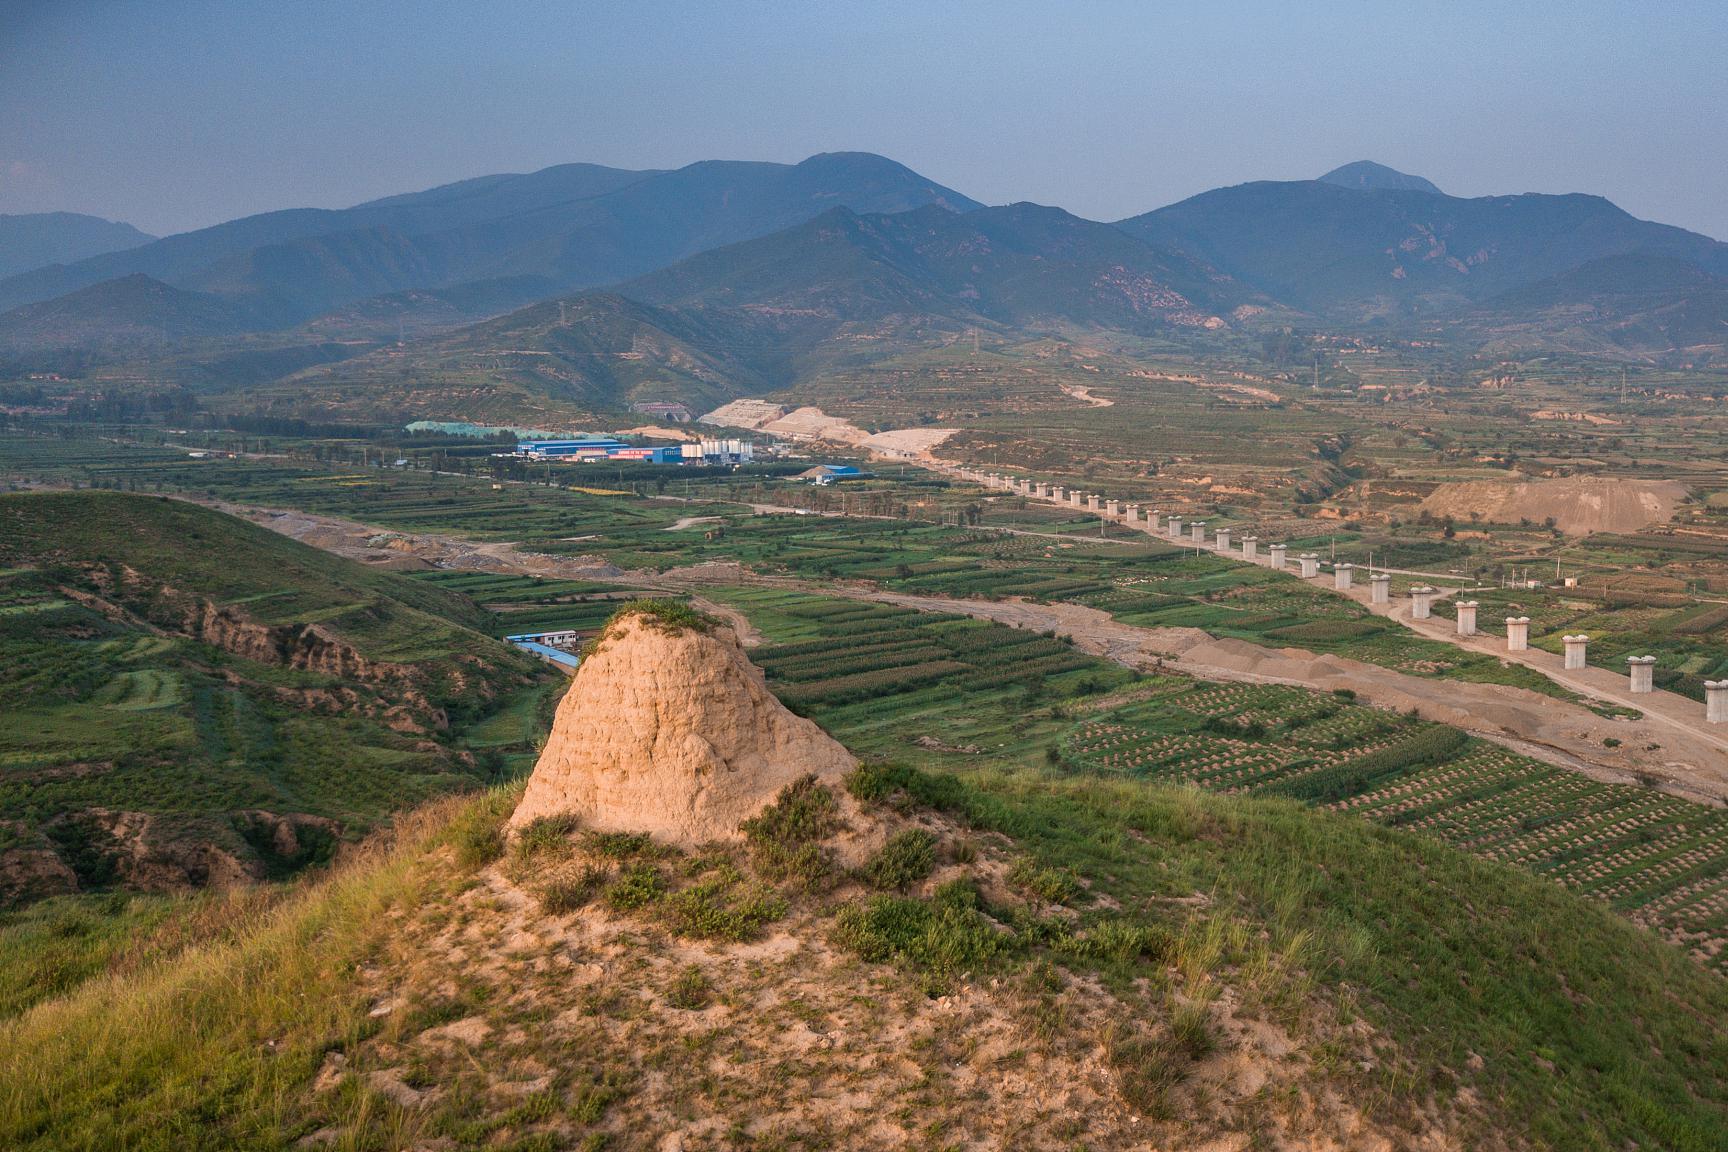
[(492, 779), (544, 674), (486, 627), (195, 504), (0, 497), (0, 902), (283, 876)]

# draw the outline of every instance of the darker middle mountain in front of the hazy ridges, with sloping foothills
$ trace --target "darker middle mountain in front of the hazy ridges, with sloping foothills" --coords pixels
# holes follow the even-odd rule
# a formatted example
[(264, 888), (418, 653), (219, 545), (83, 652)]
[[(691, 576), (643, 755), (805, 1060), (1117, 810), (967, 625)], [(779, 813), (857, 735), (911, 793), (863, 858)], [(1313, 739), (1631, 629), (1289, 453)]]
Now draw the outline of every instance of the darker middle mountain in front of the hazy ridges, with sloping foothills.
[(550, 301), (304, 373), (308, 387), (463, 371), (591, 408), (714, 404), (968, 328), (1225, 326), (1270, 306), (1198, 261), (1035, 204), (857, 214), (835, 207), (605, 292)]

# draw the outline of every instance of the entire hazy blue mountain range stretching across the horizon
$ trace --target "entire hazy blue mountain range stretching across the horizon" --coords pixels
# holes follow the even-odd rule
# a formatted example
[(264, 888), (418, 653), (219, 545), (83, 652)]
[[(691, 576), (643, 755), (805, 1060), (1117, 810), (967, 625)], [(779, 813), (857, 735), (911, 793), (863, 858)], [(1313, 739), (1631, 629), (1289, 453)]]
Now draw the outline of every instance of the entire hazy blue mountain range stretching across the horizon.
[(565, 164), (251, 216), (0, 280), (0, 347), (195, 342), (219, 359), (266, 333), (316, 347), (278, 358), (320, 364), (313, 382), (375, 378), (384, 358), (401, 371), (406, 340), (410, 364), (441, 373), (539, 358), (532, 390), (607, 406), (650, 383), (693, 401), (779, 387), (966, 328), (1204, 339), (1272, 323), (1709, 359), (1725, 282), (1728, 245), (1600, 197), (1452, 197), (1369, 161), (1106, 225), (983, 207), (836, 152)]

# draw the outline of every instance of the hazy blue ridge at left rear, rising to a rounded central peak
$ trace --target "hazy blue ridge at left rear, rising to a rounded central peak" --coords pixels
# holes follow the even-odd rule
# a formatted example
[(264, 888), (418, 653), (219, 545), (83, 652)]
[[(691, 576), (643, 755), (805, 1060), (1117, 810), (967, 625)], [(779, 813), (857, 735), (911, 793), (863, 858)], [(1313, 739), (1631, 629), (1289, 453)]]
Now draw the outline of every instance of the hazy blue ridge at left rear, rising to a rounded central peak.
[(904, 211), (976, 204), (893, 161), (824, 154), (802, 164), (703, 161), (662, 173), (567, 164), (479, 178), (342, 211), (268, 212), (73, 266), (0, 282), (0, 307), (131, 273), (251, 297), (285, 328), (384, 292), (544, 276), (546, 294), (636, 276), (833, 206)]

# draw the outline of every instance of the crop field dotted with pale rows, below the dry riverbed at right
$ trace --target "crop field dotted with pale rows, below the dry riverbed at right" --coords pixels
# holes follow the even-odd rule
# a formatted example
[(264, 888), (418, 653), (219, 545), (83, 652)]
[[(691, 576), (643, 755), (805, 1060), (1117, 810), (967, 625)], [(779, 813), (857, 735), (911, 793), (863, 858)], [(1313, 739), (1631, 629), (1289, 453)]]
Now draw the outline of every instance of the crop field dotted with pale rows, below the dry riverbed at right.
[(1728, 971), (1728, 813), (1294, 687), (1178, 684), (1063, 739), (1085, 770), (1294, 796), (1602, 900)]

